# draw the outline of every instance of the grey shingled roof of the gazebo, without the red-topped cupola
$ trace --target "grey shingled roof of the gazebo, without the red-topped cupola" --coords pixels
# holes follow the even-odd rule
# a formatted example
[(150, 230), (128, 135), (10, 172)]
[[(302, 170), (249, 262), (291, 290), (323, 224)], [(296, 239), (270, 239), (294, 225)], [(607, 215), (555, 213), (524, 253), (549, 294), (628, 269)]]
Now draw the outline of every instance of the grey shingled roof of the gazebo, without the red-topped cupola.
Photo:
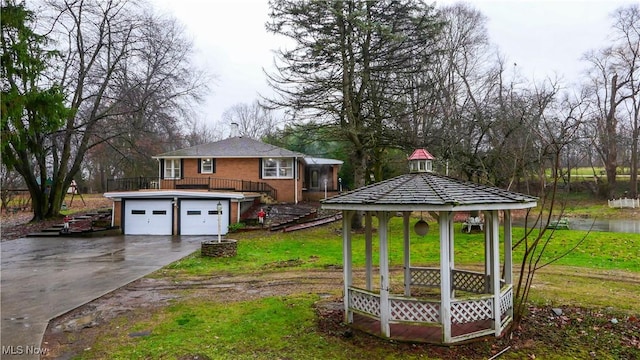
[(537, 198), (433, 173), (412, 173), (323, 201), (335, 210), (465, 211), (535, 207)]

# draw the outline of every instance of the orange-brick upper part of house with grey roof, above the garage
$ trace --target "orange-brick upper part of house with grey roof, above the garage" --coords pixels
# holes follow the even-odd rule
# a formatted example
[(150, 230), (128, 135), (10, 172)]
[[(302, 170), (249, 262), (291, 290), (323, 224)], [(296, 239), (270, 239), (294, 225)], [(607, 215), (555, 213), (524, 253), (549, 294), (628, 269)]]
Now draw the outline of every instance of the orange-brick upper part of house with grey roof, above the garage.
[[(158, 160), (161, 189), (261, 192), (277, 202), (324, 197), (339, 188), (342, 161), (309, 157), (247, 137), (166, 152)], [(326, 180), (326, 183), (325, 183)]]

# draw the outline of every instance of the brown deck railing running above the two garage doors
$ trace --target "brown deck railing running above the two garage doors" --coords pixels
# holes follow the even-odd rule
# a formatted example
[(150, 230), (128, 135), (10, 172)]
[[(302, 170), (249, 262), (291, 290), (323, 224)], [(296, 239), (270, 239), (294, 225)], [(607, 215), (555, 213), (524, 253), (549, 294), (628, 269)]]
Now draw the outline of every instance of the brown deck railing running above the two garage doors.
[(264, 182), (220, 179), (213, 177), (161, 179), (157, 177), (137, 177), (107, 180), (107, 191), (137, 191), (146, 189), (200, 189), (200, 190), (224, 190), (239, 192), (257, 192), (277, 199), (277, 191), (271, 185)]

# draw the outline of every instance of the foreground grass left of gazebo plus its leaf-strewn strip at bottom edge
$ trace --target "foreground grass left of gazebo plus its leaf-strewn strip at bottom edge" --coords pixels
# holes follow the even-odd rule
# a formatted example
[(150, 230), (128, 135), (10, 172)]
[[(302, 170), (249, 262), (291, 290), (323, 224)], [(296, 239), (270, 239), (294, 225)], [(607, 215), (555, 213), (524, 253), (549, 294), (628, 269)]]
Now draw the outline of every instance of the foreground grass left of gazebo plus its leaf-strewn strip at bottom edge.
[[(108, 338), (86, 359), (394, 359), (397, 345), (366, 348), (316, 331), (316, 295), (271, 297), (229, 304), (187, 301), (168, 307), (134, 329), (149, 336)], [(215, 321), (212, 321), (215, 319)], [(371, 344), (369, 344), (371, 345)], [(424, 354), (404, 353), (405, 359)]]

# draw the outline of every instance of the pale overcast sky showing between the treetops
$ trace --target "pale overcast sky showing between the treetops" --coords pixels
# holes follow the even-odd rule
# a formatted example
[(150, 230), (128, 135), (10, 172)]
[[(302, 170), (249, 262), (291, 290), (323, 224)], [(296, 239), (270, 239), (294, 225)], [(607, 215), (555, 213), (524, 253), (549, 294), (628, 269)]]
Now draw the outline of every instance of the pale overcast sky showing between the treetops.
[[(209, 125), (238, 103), (269, 94), (263, 68), (283, 39), (265, 31), (267, 0), (152, 0), (175, 16), (193, 40), (198, 65), (217, 76), (200, 109)], [(440, 0), (436, 5), (457, 1)], [(488, 18), (489, 37), (520, 74), (542, 80), (558, 74), (575, 82), (584, 67), (580, 57), (607, 45), (609, 15), (624, 0), (472, 0)]]

